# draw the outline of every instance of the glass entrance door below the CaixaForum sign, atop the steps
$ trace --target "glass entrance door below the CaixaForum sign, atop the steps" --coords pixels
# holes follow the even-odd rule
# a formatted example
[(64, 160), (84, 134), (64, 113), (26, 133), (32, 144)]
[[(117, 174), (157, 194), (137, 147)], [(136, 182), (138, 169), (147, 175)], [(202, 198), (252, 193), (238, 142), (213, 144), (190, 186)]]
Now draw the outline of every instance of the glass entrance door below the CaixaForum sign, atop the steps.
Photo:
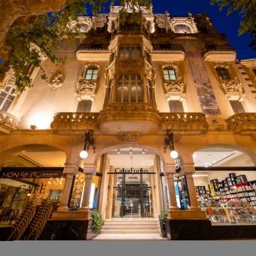
[(113, 217), (151, 217), (149, 174), (118, 174)]

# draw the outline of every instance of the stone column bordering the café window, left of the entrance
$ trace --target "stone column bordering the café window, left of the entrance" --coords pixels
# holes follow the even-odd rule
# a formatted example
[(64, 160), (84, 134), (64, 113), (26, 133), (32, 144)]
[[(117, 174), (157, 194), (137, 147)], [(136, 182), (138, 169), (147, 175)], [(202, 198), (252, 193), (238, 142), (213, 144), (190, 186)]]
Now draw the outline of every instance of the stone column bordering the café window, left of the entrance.
[(72, 181), (73, 177), (78, 173), (78, 166), (66, 164), (63, 173), (66, 174), (66, 181), (62, 191), (62, 200), (59, 204), (58, 212), (69, 211), (68, 203), (70, 194), (72, 193)]

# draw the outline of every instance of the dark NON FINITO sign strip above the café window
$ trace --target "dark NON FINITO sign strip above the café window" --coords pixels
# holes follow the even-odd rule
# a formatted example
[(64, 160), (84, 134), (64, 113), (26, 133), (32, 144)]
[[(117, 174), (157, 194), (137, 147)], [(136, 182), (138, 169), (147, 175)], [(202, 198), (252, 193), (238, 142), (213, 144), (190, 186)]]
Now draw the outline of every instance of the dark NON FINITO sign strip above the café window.
[(64, 167), (3, 167), (0, 178), (60, 178)]

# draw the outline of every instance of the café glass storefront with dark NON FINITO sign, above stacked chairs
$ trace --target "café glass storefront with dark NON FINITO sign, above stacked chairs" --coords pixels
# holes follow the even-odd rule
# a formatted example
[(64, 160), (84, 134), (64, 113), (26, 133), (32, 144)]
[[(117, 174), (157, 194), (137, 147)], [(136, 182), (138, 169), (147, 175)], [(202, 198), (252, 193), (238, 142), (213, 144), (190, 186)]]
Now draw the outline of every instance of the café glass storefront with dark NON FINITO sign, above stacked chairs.
[[(65, 177), (63, 168), (4, 168), (0, 178), (0, 222), (15, 221), (29, 200), (50, 199), (58, 206)], [(26, 178), (29, 177), (29, 178)], [(31, 178), (33, 177), (33, 178)]]

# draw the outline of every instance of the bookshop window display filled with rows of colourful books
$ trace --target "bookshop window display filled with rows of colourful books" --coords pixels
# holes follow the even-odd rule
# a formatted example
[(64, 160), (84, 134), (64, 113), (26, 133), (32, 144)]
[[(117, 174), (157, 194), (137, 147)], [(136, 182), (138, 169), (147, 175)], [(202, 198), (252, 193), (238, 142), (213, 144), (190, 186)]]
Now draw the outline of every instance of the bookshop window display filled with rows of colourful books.
[(256, 181), (230, 173), (208, 187), (196, 186), (197, 200), (212, 224), (256, 224)]

